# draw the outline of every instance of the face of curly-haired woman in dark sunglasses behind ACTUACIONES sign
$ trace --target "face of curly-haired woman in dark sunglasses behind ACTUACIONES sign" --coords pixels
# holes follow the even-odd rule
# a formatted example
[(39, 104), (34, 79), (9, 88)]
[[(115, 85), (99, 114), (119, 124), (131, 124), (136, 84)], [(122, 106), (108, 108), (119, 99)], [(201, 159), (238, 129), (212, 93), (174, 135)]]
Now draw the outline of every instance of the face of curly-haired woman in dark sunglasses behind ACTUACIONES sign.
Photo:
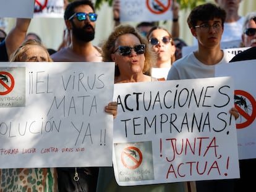
[[(130, 78), (135, 73), (143, 73), (145, 56), (143, 54), (143, 50), (139, 49), (141, 46), (138, 45), (140, 44), (139, 38), (130, 33), (121, 35), (117, 38), (114, 46), (115, 52), (111, 54), (111, 58), (119, 67), (120, 76)], [(122, 47), (120, 51), (117, 49), (119, 47)], [(134, 49), (129, 48), (135, 48), (137, 52), (135, 52)], [(122, 56), (122, 51), (128, 51), (126, 52), (127, 55)]]

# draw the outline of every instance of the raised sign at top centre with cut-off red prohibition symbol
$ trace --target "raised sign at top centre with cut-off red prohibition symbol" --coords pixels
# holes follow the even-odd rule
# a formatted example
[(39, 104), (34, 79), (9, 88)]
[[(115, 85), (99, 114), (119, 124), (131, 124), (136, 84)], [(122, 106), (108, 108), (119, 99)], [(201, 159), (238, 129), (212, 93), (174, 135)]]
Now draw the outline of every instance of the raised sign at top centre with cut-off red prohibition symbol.
[(173, 19), (173, 0), (121, 0), (121, 22), (142, 22)]

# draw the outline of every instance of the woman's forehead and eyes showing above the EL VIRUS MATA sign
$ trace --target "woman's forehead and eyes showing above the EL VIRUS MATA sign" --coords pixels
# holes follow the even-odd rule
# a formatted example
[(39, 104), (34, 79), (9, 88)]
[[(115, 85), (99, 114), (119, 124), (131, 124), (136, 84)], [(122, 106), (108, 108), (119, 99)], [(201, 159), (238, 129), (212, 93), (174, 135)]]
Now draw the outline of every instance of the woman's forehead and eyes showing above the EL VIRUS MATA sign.
[(48, 53), (38, 45), (27, 46), (23, 53), (22, 62), (49, 62)]

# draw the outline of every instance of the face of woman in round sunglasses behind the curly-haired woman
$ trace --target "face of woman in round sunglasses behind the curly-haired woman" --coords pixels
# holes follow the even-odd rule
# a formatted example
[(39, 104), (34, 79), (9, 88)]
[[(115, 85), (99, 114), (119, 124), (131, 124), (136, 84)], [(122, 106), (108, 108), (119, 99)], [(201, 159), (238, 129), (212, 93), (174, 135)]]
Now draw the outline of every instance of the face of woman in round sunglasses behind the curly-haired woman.
[[(156, 38), (158, 40), (158, 44), (151, 44), (154, 52), (158, 54), (158, 61), (168, 61), (171, 59), (175, 52), (175, 46), (171, 44), (171, 38), (169, 38), (169, 34), (166, 30), (156, 29), (153, 30), (148, 36), (148, 40)], [(168, 41), (169, 40), (169, 41)]]

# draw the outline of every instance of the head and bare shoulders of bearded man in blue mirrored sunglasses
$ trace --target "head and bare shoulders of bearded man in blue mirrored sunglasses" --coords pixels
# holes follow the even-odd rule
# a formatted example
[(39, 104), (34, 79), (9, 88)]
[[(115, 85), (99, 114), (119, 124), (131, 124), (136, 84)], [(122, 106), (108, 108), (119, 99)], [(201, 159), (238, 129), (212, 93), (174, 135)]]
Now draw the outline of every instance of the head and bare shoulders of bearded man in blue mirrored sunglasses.
[(70, 2), (65, 9), (64, 19), (71, 42), (67, 48), (51, 55), (53, 61), (101, 62), (101, 49), (92, 44), (97, 19), (92, 2)]

